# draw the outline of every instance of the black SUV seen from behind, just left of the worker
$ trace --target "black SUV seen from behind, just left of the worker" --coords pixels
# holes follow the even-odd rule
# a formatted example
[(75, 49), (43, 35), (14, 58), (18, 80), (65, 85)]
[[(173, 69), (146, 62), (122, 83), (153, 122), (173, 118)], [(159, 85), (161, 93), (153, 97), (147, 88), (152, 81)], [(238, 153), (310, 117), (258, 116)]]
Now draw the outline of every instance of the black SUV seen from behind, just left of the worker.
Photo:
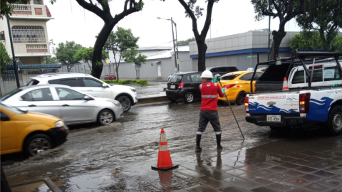
[(184, 102), (193, 102), (195, 98), (201, 98), (199, 85), (202, 83), (200, 78), (202, 72), (176, 73), (167, 82), (166, 96), (171, 101), (183, 98)]

